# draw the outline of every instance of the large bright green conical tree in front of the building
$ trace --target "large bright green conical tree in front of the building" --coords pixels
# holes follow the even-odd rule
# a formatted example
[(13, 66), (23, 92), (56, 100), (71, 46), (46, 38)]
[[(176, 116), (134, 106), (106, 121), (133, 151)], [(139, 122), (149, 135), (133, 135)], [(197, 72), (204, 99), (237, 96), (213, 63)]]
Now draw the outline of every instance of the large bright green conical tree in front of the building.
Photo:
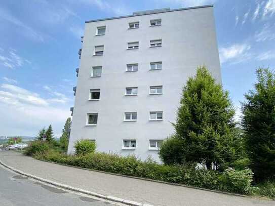
[(236, 144), (241, 140), (233, 116), (228, 91), (215, 83), (206, 67), (199, 67), (183, 87), (174, 123), (176, 136), (184, 145), (181, 162), (205, 163), (207, 169), (221, 170), (241, 158), (243, 148)]

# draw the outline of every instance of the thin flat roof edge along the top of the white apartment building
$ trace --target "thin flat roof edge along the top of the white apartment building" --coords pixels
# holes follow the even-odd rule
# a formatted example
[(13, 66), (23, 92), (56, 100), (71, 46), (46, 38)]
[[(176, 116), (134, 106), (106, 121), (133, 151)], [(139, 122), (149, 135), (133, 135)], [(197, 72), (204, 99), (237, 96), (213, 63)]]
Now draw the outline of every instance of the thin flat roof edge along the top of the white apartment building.
[(182, 11), (182, 10), (189, 10), (189, 9), (200, 9), (200, 8), (206, 8), (206, 7), (213, 7), (213, 5), (205, 5), (205, 6), (198, 6), (198, 7), (188, 7), (188, 8), (180, 8), (180, 9), (155, 9), (155, 10), (147, 10), (147, 11), (141, 11), (141, 12), (133, 12), (132, 15), (126, 15), (126, 16), (119, 16), (119, 17), (110, 17), (110, 18), (104, 18), (104, 19), (95, 19), (90, 21), (85, 21), (85, 23), (90, 22), (96, 22), (96, 21), (105, 21), (105, 20), (112, 20), (112, 19), (122, 19), (127, 17), (134, 17), (134, 16), (142, 16), (142, 15), (150, 15), (150, 14), (159, 14), (159, 13), (165, 13), (165, 12), (175, 12), (175, 11)]

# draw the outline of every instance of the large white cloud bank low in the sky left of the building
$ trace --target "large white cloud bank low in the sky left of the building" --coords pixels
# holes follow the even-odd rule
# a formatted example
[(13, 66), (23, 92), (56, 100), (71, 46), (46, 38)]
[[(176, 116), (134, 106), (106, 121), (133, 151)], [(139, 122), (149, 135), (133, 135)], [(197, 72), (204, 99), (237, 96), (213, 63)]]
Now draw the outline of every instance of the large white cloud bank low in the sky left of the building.
[[(0, 87), (0, 135), (35, 135), (38, 130), (52, 124), (54, 132), (59, 134), (67, 117), (70, 116), (61, 93), (53, 95), (60, 98), (43, 99), (29, 90), (3, 84)], [(63, 99), (62, 99), (63, 98)], [(62, 103), (56, 105), (55, 103)]]

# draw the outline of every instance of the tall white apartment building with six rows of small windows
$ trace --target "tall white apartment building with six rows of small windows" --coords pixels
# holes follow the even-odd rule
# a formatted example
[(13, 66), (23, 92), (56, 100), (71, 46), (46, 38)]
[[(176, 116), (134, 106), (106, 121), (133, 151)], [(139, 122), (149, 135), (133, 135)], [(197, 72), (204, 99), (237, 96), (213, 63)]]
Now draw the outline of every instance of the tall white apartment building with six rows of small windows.
[(212, 5), (87, 21), (82, 42), (68, 153), (88, 139), (160, 161), (188, 77), (206, 65), (221, 83)]

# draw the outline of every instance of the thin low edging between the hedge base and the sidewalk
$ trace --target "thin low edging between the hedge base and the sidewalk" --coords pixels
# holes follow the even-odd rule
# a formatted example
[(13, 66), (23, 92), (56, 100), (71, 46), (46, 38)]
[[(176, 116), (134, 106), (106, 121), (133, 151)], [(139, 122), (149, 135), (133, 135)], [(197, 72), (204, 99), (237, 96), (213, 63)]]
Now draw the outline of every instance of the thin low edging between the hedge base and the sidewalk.
[[(34, 157), (32, 157), (32, 158), (34, 158)], [(36, 158), (34, 158), (34, 159), (36, 159)], [(36, 159), (36, 160), (45, 161), (45, 162), (49, 162), (49, 163), (53, 163), (53, 164), (59, 164), (61, 166), (66, 166), (66, 167), (70, 167), (70, 168), (76, 168), (76, 169), (81, 169), (81, 170), (88, 170), (88, 171), (93, 171), (93, 172), (98, 172), (98, 173), (104, 173), (104, 174), (108, 174), (108, 175), (116, 175), (116, 176), (121, 176), (121, 177), (132, 178), (132, 179), (145, 180), (145, 181), (149, 181), (149, 182), (163, 183), (163, 184), (167, 184), (167, 185), (187, 187), (187, 188), (191, 188), (191, 189), (199, 189), (199, 190), (204, 190), (204, 191), (208, 191), (208, 192), (215, 192), (215, 193), (219, 193), (219, 194), (227, 194), (227, 195), (233, 195), (233, 196), (239, 196), (239, 197), (249, 197), (248, 195), (244, 195), (244, 194), (237, 194), (237, 193), (230, 193), (230, 192), (224, 192), (224, 191), (218, 191), (218, 190), (211, 190), (211, 189), (195, 187), (195, 186), (189, 186), (189, 185), (183, 185), (183, 184), (178, 184), (178, 183), (164, 182), (164, 181), (161, 181), (161, 180), (153, 180), (153, 179), (148, 179), (148, 178), (134, 177), (134, 176), (121, 175), (121, 174), (116, 174), (116, 173), (100, 171), (100, 170), (81, 168), (81, 167), (77, 167), (77, 166), (70, 166), (68, 164), (62, 164), (62, 163), (58, 163), (58, 162), (54, 162), (54, 161), (47, 161), (47, 160), (44, 160), (44, 159)], [(1, 160), (0, 160), (0, 163), (1, 163)], [(143, 205), (144, 206), (150, 206), (149, 204), (148, 205), (143, 204)]]

